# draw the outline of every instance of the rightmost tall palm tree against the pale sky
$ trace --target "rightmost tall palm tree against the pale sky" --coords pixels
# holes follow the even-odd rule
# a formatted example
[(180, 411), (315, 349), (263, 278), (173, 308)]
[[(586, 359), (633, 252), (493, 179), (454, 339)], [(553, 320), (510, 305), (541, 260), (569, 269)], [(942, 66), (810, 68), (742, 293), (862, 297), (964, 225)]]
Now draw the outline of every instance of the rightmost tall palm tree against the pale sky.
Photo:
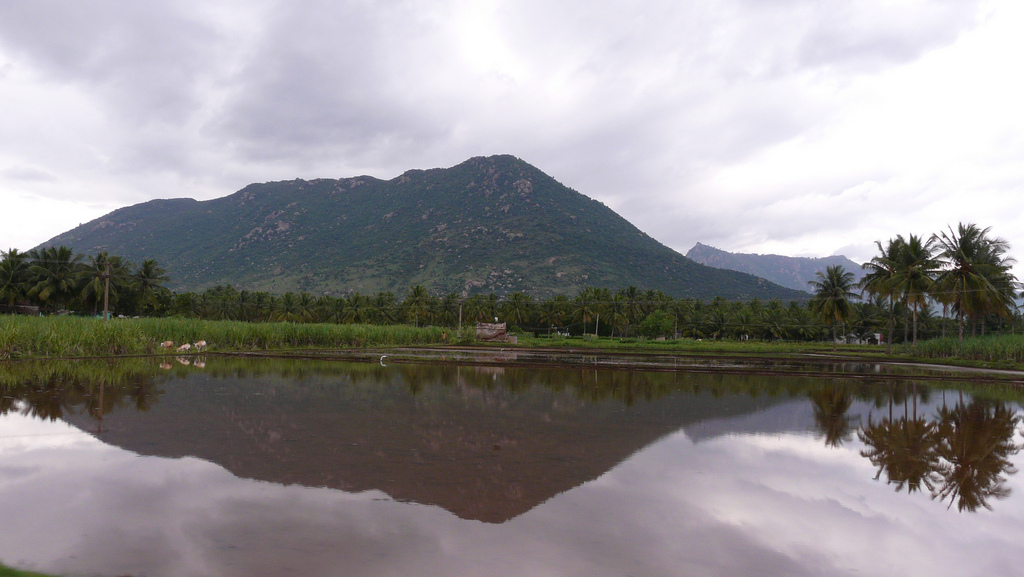
[(961, 341), (966, 316), (1010, 316), (1016, 308), (1014, 299), (1020, 285), (1010, 273), (1015, 260), (1006, 256), (1010, 244), (988, 233), (989, 229), (961, 222), (955, 233), (950, 228), (948, 235), (933, 235), (944, 264), (936, 285), (956, 313)]

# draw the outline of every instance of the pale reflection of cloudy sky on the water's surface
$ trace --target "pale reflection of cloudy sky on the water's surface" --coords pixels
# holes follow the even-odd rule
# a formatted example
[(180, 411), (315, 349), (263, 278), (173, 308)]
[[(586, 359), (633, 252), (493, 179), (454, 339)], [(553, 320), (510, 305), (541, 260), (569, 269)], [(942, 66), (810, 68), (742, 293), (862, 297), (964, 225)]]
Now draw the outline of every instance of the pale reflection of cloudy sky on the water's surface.
[[(61, 423), (0, 419), (33, 439)], [(671, 436), (502, 525), (379, 492), (239, 480), (191, 458), (0, 446), (0, 559), (147, 575), (1007, 575), (1024, 501), (969, 519), (873, 482), (855, 442)], [(1012, 479), (1011, 483), (1019, 483)], [(45, 539), (40, 536), (45, 535)], [(970, 559), (966, 551), (985, 553)], [(1012, 572), (1011, 572), (1012, 573)]]

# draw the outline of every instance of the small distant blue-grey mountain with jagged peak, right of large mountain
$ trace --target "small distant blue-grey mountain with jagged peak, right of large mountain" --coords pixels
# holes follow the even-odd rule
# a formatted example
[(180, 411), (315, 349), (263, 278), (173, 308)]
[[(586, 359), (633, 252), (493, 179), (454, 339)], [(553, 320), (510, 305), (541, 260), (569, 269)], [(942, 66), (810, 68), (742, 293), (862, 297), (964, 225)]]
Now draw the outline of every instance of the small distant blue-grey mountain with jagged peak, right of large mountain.
[(749, 254), (726, 252), (697, 243), (686, 253), (686, 257), (708, 266), (749, 273), (797, 290), (808, 290), (808, 281), (814, 280), (816, 273), (824, 272), (833, 264), (839, 264), (848, 273), (853, 273), (858, 281), (864, 276), (860, 264), (843, 255), (807, 258), (779, 254)]

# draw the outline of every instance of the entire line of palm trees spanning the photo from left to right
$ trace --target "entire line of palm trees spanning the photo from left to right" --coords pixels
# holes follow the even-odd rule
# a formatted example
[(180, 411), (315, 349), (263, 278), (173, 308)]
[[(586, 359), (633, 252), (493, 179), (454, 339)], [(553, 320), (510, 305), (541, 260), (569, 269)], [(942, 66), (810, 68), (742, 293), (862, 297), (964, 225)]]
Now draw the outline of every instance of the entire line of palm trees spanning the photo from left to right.
[(523, 292), (506, 297), (434, 295), (423, 286), (400, 296), (387, 291), (271, 294), (231, 286), (172, 293), (155, 260), (136, 266), (105, 252), (86, 257), (62, 246), (27, 254), (12, 249), (0, 260), (0, 303), (95, 314), (101, 310), (109, 262), (111, 308), (125, 316), (445, 327), (498, 320), (542, 335), (613, 338), (811, 341), (831, 336), (835, 341), (840, 333), (858, 339), (883, 333), (890, 344), (945, 336), (953, 329), (963, 338), (967, 325), (972, 334), (1011, 332), (1021, 325), (1016, 306), (1020, 283), (1011, 273), (1015, 261), (1007, 254), (1007, 242), (988, 229), (959, 224), (927, 240), (897, 236), (877, 245), (879, 254), (864, 264), (867, 275), (861, 283), (842, 266), (829, 266), (810, 283), (810, 300), (788, 302), (676, 299), (635, 286), (586, 287), (574, 296), (545, 299)]

